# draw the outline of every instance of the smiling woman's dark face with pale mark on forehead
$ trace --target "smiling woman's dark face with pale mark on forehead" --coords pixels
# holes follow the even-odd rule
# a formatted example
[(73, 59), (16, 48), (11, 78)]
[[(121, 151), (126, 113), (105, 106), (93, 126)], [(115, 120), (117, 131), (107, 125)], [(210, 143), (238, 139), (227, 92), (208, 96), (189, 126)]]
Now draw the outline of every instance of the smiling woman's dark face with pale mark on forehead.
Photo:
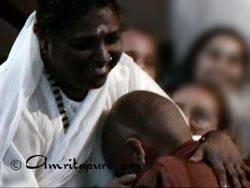
[(110, 8), (94, 9), (50, 39), (47, 51), (61, 81), (76, 89), (99, 88), (122, 54), (119, 18)]

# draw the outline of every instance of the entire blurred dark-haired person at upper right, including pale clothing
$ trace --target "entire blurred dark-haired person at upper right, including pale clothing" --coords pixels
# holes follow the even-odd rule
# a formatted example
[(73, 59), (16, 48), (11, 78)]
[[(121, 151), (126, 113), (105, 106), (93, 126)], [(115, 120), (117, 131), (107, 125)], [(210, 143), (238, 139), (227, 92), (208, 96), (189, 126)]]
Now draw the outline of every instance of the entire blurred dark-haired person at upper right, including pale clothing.
[(219, 88), (231, 114), (230, 133), (244, 158), (250, 158), (249, 51), (238, 31), (216, 27), (192, 45), (183, 64), (185, 82), (204, 81)]

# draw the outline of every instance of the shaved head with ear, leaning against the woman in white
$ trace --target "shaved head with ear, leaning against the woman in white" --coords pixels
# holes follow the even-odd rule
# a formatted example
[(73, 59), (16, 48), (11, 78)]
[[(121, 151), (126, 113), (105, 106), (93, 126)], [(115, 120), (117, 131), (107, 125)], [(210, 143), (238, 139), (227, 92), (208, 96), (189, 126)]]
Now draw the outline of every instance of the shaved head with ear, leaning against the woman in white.
[(106, 119), (102, 149), (116, 176), (141, 171), (191, 140), (180, 111), (170, 100), (146, 91), (121, 97)]

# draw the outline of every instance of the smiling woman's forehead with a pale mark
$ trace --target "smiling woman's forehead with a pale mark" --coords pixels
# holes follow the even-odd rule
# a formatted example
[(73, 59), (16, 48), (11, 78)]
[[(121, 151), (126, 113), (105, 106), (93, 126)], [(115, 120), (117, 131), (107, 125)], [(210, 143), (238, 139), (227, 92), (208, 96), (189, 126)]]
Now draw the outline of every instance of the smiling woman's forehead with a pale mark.
[(110, 8), (93, 9), (80, 18), (73, 26), (71, 34), (76, 38), (98, 35), (100, 32), (119, 31), (120, 23), (117, 15)]

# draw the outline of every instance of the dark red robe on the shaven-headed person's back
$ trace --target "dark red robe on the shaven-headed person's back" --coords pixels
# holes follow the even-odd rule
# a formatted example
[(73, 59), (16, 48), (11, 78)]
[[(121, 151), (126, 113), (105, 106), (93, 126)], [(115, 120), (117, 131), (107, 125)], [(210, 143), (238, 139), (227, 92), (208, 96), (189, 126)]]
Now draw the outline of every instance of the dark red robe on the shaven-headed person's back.
[(213, 170), (205, 162), (188, 161), (197, 146), (197, 142), (190, 141), (175, 156), (157, 159), (135, 187), (219, 187)]

